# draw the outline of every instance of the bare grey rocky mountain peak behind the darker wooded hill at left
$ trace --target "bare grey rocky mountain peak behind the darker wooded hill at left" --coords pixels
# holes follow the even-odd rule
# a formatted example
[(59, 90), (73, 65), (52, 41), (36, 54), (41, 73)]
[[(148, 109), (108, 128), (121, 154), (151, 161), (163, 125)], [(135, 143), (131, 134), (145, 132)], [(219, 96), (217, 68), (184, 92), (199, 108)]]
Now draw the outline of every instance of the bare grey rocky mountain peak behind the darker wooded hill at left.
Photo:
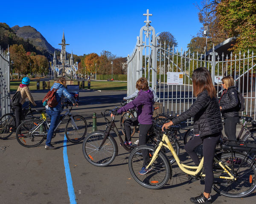
[(47, 40), (38, 32), (35, 28), (31, 26), (14, 26), (12, 30), (15, 32), (17, 37), (22, 37), (24, 40), (29, 39), (29, 42), (34, 45), (38, 50), (45, 49), (49, 53), (54, 53), (54, 47), (47, 42)]

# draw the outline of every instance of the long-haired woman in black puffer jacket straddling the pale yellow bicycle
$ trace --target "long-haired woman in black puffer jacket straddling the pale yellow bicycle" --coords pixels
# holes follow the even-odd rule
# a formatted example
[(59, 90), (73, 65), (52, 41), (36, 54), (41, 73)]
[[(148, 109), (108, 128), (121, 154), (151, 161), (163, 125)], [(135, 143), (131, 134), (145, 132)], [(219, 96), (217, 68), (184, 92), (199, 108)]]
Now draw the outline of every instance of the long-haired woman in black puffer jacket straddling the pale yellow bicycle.
[(184, 148), (198, 166), (200, 160), (194, 149), (203, 143), (204, 171), (206, 176), (204, 193), (190, 198), (190, 201), (193, 203), (211, 203), (210, 193), (213, 184), (212, 163), (215, 147), (223, 129), (221, 111), (209, 71), (204, 67), (195, 69), (192, 75), (192, 81), (196, 101), (190, 106), (189, 110), (181, 113), (171, 122), (164, 124), (163, 128), (176, 125), (188, 118), (194, 117), (195, 136), (189, 140)]

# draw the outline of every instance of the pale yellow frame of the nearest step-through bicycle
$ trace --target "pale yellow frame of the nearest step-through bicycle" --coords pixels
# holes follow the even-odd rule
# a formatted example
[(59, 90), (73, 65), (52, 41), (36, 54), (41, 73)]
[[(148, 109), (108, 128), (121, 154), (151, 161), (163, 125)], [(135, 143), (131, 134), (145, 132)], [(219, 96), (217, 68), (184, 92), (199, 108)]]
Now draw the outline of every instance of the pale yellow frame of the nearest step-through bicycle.
[[(180, 167), (180, 169), (184, 173), (192, 175), (192, 176), (203, 176), (203, 177), (205, 177), (205, 175), (201, 173), (202, 168), (203, 168), (203, 163), (204, 163), (204, 157), (201, 159), (200, 164), (198, 166), (189, 166), (189, 165), (186, 165), (186, 164), (182, 164), (179, 157), (175, 153), (175, 150), (172, 147), (172, 144), (169, 141), (168, 136), (166, 134), (163, 134), (163, 139), (160, 141), (157, 149), (155, 150), (154, 155), (152, 156), (152, 159), (151, 159), (150, 163), (146, 167), (147, 169), (157, 159), (158, 153), (160, 152), (160, 150), (163, 146), (167, 147), (172, 152), (172, 155), (174, 156), (175, 161), (177, 162), (178, 166)], [(234, 175), (232, 173), (230, 173), (231, 169), (229, 167), (227, 167), (227, 165), (224, 166), (222, 164), (222, 161), (218, 161), (218, 159), (216, 159), (216, 157), (214, 157), (214, 161), (216, 161), (217, 164), (224, 170), (224, 172), (226, 172), (230, 176), (230, 177), (219, 176), (218, 178), (230, 179), (230, 180), (235, 179), (236, 180)], [(188, 169), (195, 169), (196, 171), (191, 171), (191, 170), (188, 170)]]

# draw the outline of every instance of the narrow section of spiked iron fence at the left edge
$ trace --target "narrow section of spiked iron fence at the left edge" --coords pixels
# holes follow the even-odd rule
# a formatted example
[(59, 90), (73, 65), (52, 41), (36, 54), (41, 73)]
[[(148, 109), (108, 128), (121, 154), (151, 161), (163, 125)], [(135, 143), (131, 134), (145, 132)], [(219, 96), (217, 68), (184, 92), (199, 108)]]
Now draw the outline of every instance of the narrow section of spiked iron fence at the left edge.
[(10, 113), (10, 54), (0, 48), (0, 116)]

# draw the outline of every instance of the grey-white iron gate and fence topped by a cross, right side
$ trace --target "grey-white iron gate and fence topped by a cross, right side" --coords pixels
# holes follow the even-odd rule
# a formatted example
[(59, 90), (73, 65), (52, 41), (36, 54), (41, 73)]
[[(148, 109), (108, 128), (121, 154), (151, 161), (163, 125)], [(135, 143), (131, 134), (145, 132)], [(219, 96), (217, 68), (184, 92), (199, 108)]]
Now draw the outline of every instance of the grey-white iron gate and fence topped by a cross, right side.
[[(146, 25), (140, 29), (140, 37), (137, 37), (133, 53), (128, 55), (128, 95), (136, 90), (137, 79), (145, 76), (157, 93), (159, 102), (163, 104), (163, 112), (180, 114), (188, 110), (195, 101), (192, 72), (198, 67), (206, 67), (211, 73), (218, 98), (223, 93), (221, 79), (224, 76), (233, 77), (238, 91), (245, 99), (245, 111), (242, 114), (256, 119), (256, 56), (253, 52), (224, 56), (223, 53), (219, 55), (215, 52), (214, 45), (208, 55), (190, 50), (179, 51), (174, 46), (166, 45), (166, 42), (158, 42), (159, 37), (148, 20), (151, 14), (147, 10), (147, 14), (143, 15), (147, 16), (144, 21)], [(182, 85), (168, 85), (167, 72), (182, 73)], [(192, 119), (187, 122), (192, 122)]]

